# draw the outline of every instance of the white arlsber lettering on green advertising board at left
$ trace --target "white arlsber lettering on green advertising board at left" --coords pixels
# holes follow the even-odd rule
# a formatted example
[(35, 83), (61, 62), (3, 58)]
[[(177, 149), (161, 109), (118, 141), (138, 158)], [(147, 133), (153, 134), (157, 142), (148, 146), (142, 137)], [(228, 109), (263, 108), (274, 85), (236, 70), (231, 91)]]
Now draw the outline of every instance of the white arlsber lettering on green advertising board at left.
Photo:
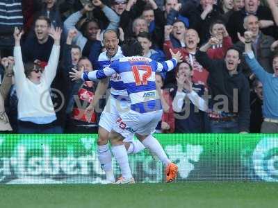
[(97, 174), (104, 174), (99, 168), (99, 162), (95, 153), (81, 157), (51, 157), (50, 147), (42, 146), (42, 156), (26, 157), (26, 146), (17, 147), (17, 157), (1, 157), (0, 159), (0, 182), (13, 174), (17, 177), (27, 175), (88, 175), (94, 166)]

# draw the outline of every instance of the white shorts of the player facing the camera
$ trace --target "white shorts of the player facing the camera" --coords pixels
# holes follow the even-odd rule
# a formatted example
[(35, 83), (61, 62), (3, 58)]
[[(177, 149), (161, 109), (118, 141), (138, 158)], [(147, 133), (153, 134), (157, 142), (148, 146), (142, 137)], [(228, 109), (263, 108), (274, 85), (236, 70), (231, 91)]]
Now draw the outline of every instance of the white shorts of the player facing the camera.
[[(113, 125), (115, 125), (117, 119), (124, 112), (129, 112), (131, 103), (129, 101), (118, 101), (112, 95), (109, 96), (108, 102), (104, 107), (104, 111), (101, 113), (99, 126), (111, 132)], [(126, 138), (124, 141), (131, 141), (133, 137)]]

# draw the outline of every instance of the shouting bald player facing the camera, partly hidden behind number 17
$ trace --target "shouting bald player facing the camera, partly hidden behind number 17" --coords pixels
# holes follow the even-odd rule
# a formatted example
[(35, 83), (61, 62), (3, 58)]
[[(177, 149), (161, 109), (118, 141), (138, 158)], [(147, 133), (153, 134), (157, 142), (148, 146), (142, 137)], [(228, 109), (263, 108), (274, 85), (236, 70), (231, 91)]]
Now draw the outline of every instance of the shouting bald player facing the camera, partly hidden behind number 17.
[[(116, 31), (106, 30), (103, 37), (106, 51), (102, 52), (97, 59), (96, 65), (99, 69), (104, 69), (111, 64), (111, 62), (124, 57), (124, 55), (122, 55), (122, 49), (118, 45), (119, 38), (117, 37)], [(95, 62), (95, 60), (92, 61)], [(95, 97), (90, 103), (90, 106), (86, 109), (88, 113), (93, 112), (95, 107), (97, 107), (99, 98), (105, 94), (108, 84), (108, 78), (100, 80), (99, 85), (97, 85)], [(120, 116), (120, 111), (129, 110), (130, 108), (130, 99), (119, 74), (111, 76), (110, 85), (111, 96), (108, 98), (108, 103), (106, 103), (106, 107), (100, 116), (98, 130), (99, 138), (97, 139), (97, 155), (101, 168), (105, 172), (107, 183), (115, 182), (112, 168), (112, 155), (108, 148), (108, 135), (113, 128), (113, 124)], [(138, 153), (140, 150), (145, 149), (145, 146), (143, 146), (140, 141), (134, 140), (133, 137), (125, 138), (124, 144), (127, 153)]]

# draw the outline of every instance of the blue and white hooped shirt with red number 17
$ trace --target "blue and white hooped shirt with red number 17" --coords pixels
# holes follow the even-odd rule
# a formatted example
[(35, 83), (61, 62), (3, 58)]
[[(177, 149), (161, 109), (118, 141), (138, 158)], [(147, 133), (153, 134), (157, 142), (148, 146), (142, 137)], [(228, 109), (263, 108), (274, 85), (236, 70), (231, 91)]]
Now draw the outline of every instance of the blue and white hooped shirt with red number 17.
[(97, 80), (119, 74), (131, 100), (131, 110), (145, 113), (161, 110), (161, 100), (156, 94), (156, 71), (166, 72), (176, 66), (174, 58), (160, 63), (141, 56), (123, 57), (104, 69), (83, 73), (82, 78)]

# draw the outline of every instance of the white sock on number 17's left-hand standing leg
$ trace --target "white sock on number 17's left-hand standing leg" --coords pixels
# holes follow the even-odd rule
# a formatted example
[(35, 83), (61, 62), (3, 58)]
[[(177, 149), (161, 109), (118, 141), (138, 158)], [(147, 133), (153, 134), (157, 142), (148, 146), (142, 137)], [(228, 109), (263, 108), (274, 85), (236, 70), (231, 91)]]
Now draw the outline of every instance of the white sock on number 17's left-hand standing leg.
[(112, 153), (120, 166), (122, 177), (124, 177), (126, 180), (131, 179), (131, 168), (129, 167), (129, 158), (127, 157), (124, 144), (112, 146)]

